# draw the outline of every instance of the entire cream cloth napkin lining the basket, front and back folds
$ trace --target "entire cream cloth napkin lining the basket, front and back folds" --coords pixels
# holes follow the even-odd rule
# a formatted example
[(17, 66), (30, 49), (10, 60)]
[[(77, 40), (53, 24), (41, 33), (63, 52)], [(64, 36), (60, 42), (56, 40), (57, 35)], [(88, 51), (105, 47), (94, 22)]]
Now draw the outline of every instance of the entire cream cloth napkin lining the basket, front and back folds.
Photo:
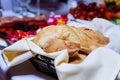
[[(4, 56), (3, 59), (6, 65), (11, 67), (28, 60), (35, 54), (40, 54), (55, 59), (54, 64), (59, 80), (114, 80), (120, 70), (120, 55), (118, 54), (120, 47), (118, 43), (114, 44), (116, 42), (114, 38), (119, 40), (119, 35), (114, 32), (114, 29), (118, 30), (116, 29), (116, 26), (105, 21), (106, 20), (96, 18), (91, 22), (93, 25), (91, 28), (99, 30), (105, 36), (109, 37), (110, 43), (105, 47), (99, 47), (92, 51), (80, 64), (68, 63), (67, 50), (47, 54), (29, 39), (22, 39), (5, 48), (2, 53)], [(102, 25), (103, 23), (105, 25)], [(71, 22), (69, 25), (78, 24)], [(79, 26), (81, 27), (81, 25)], [(9, 61), (4, 53), (6, 51), (18, 52), (21, 54)]]

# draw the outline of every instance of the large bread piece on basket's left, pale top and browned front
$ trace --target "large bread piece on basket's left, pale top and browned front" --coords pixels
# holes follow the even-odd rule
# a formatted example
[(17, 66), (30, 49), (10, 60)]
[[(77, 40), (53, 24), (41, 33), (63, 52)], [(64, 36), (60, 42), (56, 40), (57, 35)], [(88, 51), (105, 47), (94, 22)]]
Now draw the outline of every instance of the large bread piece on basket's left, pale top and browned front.
[(79, 36), (67, 25), (48, 26), (32, 40), (47, 53), (67, 49), (70, 57), (79, 51)]

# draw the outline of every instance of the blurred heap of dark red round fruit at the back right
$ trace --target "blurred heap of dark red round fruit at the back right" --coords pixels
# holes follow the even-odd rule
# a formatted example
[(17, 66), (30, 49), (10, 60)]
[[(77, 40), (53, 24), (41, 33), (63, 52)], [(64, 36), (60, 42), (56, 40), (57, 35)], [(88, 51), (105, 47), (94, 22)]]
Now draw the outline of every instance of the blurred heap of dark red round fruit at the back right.
[(115, 14), (109, 12), (104, 4), (97, 5), (95, 2), (89, 3), (88, 5), (80, 3), (76, 8), (71, 8), (70, 13), (76, 19), (92, 20), (95, 17), (113, 19)]

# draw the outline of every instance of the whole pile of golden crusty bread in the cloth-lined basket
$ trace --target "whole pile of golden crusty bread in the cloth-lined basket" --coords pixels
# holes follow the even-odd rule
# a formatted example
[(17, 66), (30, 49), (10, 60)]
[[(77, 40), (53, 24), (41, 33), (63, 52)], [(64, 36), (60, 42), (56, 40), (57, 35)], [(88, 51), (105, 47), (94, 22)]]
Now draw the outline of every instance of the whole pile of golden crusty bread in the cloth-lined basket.
[(109, 43), (109, 39), (99, 31), (68, 25), (45, 27), (32, 41), (47, 53), (67, 49), (72, 59), (70, 63), (81, 62), (91, 51)]

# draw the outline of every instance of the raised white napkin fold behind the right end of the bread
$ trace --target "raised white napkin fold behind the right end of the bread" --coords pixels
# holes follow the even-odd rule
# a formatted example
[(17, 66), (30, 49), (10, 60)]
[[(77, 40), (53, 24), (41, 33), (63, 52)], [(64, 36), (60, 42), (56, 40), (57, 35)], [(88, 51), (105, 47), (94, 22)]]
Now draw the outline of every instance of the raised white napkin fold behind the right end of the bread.
[(106, 46), (120, 54), (120, 25), (115, 25), (105, 19), (95, 18), (92, 21), (94, 29), (101, 31), (105, 36), (109, 37), (110, 43)]

